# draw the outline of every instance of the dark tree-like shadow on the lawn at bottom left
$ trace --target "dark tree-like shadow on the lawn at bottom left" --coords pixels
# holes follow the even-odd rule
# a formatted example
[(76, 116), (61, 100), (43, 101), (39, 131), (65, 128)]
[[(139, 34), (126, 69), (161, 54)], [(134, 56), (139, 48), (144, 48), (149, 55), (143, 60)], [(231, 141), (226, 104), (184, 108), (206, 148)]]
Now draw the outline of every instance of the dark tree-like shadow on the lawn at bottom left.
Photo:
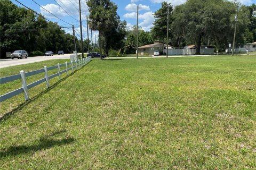
[(62, 132), (66, 132), (66, 131), (65, 130), (57, 131), (50, 135), (46, 135), (45, 137), (40, 138), (38, 144), (35, 144), (35, 145), (11, 146), (7, 149), (2, 149), (3, 151), (0, 151), (0, 158), (7, 157), (7, 156), (16, 156), (20, 154), (27, 154), (28, 152), (35, 152), (43, 149), (49, 149), (54, 146), (67, 145), (75, 141), (74, 138), (67, 138), (67, 137), (61, 140), (47, 139), (49, 137), (52, 137), (53, 135), (60, 134)]

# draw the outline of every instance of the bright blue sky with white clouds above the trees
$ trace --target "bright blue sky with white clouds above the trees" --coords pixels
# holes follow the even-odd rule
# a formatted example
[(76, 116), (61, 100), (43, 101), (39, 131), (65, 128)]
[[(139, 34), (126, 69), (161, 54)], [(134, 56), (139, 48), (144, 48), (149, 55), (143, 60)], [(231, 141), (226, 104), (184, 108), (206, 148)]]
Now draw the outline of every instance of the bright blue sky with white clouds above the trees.
[[(14, 4), (18, 4), (14, 0), (11, 0)], [(32, 8), (33, 10), (37, 11), (38, 13), (43, 14), (47, 19), (58, 22), (58, 24), (63, 25), (65, 27), (70, 27), (69, 24), (74, 24), (77, 34), (79, 35), (79, 13), (77, 8), (78, 7), (78, 0), (34, 0), (39, 5), (46, 8), (46, 10), (53, 13), (55, 16), (58, 16), (63, 22), (57, 19), (55, 16), (50, 14), (49, 12), (45, 11), (42, 7), (38, 6), (32, 0), (18, 0), (22, 4)], [(137, 22), (136, 19), (136, 11), (137, 5), (139, 5), (139, 25), (145, 31), (149, 31), (152, 27), (152, 23), (154, 22), (154, 15), (153, 13), (161, 7), (161, 3), (164, 0), (112, 0), (118, 6), (117, 13), (120, 16), (121, 20), (127, 21), (127, 26), (132, 27)], [(165, 0), (170, 2), (173, 6), (185, 3), (186, 0)], [(231, 0), (230, 0), (231, 1)], [(239, 0), (241, 4), (244, 5), (251, 5), (252, 3), (256, 3), (256, 0)], [(83, 21), (83, 38), (87, 38), (87, 30), (86, 30), (86, 15), (89, 14), (86, 6), (86, 0), (81, 0), (82, 4), (82, 21)], [(66, 12), (65, 12), (66, 11)], [(68, 13), (68, 14), (67, 14)], [(71, 29), (65, 29), (66, 32), (71, 33)], [(78, 37), (78, 35), (76, 35)], [(98, 32), (93, 32), (94, 35), (98, 36)], [(79, 37), (78, 37), (79, 38)]]

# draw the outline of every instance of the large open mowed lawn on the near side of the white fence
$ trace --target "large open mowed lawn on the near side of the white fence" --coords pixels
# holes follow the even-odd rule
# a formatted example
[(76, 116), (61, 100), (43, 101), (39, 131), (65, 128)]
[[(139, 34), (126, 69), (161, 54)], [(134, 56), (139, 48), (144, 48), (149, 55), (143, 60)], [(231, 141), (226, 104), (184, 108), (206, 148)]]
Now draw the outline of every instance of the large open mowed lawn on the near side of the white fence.
[(0, 130), (2, 169), (256, 169), (256, 56), (93, 60)]

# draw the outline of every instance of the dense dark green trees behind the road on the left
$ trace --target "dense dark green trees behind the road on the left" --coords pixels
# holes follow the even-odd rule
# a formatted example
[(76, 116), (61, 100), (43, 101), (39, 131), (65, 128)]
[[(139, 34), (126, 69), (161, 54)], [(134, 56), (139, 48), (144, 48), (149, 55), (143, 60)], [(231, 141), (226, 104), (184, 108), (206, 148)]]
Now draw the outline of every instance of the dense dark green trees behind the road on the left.
[[(54, 54), (58, 50), (73, 53), (74, 36), (62, 30), (57, 23), (48, 22), (43, 16), (35, 15), (33, 11), (19, 7), (9, 0), (1, 0), (0, 8), (1, 58), (5, 57), (6, 52), (17, 49), (25, 49), (30, 56), (43, 55), (48, 50)], [(81, 41), (76, 37), (75, 41), (77, 50), (81, 51)], [(91, 43), (90, 40), (89, 42)], [(87, 39), (83, 44), (86, 52)]]

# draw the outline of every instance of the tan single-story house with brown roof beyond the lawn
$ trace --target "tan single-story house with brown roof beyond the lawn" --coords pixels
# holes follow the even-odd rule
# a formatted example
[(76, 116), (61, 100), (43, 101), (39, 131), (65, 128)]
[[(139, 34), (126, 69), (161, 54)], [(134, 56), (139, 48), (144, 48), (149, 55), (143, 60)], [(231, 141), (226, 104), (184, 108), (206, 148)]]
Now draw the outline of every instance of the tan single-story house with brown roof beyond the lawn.
[(167, 47), (166, 44), (163, 45), (162, 43), (159, 43), (159, 41), (155, 41), (154, 44), (148, 44), (148, 45), (139, 47), (138, 54), (145, 55), (147, 53), (149, 55), (154, 55), (155, 51), (159, 51), (160, 53), (163, 53), (163, 48), (166, 48), (166, 47)]

